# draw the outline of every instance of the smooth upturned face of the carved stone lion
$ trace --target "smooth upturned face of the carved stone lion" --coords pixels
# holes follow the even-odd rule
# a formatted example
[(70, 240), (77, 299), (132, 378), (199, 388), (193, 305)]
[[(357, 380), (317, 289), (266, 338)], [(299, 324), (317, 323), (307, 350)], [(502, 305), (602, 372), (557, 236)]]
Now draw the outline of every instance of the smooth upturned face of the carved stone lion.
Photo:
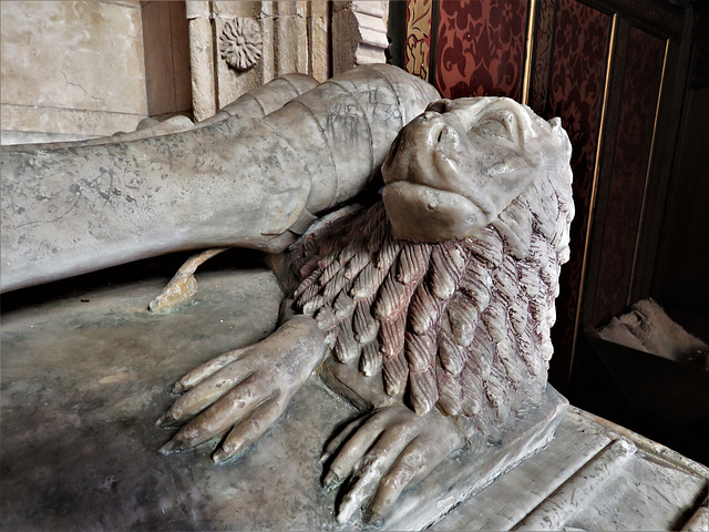
[[(443, 242), (493, 222), (562, 150), (556, 124), (506, 98), (441, 100), (407, 125), (382, 166), (395, 236)], [(565, 150), (565, 147), (564, 147)]]

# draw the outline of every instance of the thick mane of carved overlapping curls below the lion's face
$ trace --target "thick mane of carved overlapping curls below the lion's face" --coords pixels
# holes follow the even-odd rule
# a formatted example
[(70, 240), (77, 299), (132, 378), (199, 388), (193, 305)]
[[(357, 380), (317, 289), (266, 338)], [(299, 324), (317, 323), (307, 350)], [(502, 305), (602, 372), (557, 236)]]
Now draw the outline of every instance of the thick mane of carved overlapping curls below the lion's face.
[(497, 438), (546, 387), (574, 216), (568, 158), (559, 149), (496, 219), (461, 239), (399, 239), (382, 202), (307, 235), (292, 250), (296, 308), (337, 360), (381, 374), (417, 413), (438, 408), (469, 439)]

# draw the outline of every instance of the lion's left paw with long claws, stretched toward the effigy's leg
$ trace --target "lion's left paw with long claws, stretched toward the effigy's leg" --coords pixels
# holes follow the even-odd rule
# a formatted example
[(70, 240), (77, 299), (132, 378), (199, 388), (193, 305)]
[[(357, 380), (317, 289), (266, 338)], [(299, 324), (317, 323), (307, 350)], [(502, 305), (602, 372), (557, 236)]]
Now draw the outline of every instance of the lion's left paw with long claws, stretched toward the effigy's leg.
[(265, 340), (191, 371), (174, 387), (186, 392), (157, 423), (172, 426), (194, 419), (161, 452), (189, 449), (230, 429), (213, 460), (238, 454), (280, 417), (323, 352), (325, 338), (316, 321), (298, 316)]

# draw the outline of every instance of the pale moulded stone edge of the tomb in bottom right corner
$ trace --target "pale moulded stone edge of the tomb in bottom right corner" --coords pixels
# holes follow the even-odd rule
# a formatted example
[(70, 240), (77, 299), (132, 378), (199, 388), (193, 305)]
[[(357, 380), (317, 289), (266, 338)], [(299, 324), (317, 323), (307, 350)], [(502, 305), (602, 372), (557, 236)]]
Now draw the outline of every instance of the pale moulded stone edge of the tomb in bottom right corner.
[[(598, 462), (614, 447), (629, 452), (618, 454), (615, 467), (606, 464), (598, 482), (593, 470), (604, 468)], [(708, 483), (706, 467), (572, 407), (547, 449), (455, 508), (432, 530), (517, 530), (528, 514), (544, 508), (565, 511), (555, 514), (555, 523), (537, 522), (534, 530), (706, 530), (700, 520)], [(564, 492), (569, 497), (559, 497)], [(689, 522), (692, 515), (695, 523)]]

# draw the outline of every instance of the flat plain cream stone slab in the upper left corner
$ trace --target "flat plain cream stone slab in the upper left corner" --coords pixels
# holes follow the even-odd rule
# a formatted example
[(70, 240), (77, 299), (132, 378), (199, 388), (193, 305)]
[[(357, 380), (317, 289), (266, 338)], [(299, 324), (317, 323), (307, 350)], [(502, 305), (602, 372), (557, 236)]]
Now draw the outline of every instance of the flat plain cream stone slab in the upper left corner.
[(0, 2), (2, 130), (111, 134), (147, 115), (137, 0)]

